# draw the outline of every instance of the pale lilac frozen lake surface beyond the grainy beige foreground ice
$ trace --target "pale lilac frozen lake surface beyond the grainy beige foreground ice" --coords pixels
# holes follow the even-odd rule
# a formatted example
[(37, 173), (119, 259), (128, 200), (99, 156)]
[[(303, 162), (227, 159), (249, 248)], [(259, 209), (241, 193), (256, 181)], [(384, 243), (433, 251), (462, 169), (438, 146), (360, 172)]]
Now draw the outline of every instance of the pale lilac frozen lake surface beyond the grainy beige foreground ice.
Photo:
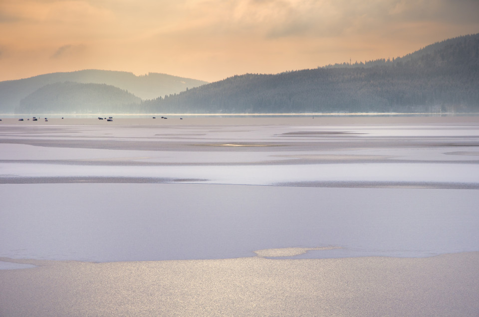
[(477, 120), (190, 119), (2, 123), (0, 257), (479, 251)]

